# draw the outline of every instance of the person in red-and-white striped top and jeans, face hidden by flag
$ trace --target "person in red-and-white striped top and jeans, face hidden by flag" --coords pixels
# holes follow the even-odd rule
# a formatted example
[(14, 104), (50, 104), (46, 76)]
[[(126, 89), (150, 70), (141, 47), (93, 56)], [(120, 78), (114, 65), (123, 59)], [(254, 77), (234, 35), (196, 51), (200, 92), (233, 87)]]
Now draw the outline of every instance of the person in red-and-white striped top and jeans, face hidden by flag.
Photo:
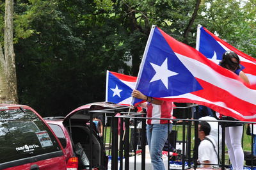
[[(168, 129), (170, 132), (172, 131), (172, 122), (168, 124), (168, 120), (159, 120), (159, 118), (172, 118), (173, 103), (147, 97), (136, 89), (132, 91), (131, 95), (132, 97), (146, 101), (147, 118), (154, 118), (147, 120), (148, 148), (154, 170), (163, 170), (162, 150), (168, 138)], [(168, 125), (170, 125), (169, 128)]]

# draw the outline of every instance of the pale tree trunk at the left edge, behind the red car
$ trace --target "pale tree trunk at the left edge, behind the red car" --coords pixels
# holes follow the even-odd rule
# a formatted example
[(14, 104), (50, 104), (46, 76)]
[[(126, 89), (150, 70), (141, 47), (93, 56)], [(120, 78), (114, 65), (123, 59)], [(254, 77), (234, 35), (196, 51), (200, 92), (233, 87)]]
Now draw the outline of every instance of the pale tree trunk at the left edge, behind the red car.
[(0, 45), (0, 103), (16, 104), (17, 78), (13, 50), (13, 0), (5, 1), (4, 52)]

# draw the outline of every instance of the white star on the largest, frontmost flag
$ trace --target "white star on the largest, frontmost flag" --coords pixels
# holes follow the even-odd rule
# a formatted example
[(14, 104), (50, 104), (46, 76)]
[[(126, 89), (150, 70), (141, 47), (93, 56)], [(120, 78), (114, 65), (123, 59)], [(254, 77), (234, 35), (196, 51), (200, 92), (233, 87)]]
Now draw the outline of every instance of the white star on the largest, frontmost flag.
[(154, 63), (150, 63), (150, 64), (156, 71), (156, 74), (154, 75), (154, 77), (151, 79), (150, 82), (161, 80), (164, 86), (166, 87), (166, 89), (168, 89), (168, 77), (177, 75), (179, 73), (168, 70), (167, 58), (164, 60), (161, 66), (155, 65)]

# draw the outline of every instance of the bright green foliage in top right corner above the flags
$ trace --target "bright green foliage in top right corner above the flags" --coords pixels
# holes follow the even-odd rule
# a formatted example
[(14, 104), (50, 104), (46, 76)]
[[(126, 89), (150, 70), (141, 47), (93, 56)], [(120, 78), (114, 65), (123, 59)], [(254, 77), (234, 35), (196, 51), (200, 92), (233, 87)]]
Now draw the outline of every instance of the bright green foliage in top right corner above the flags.
[[(250, 56), (255, 55), (255, 0), (210, 0), (204, 6), (204, 23), (212, 33)], [(221, 5), (223, 4), (223, 5)]]

